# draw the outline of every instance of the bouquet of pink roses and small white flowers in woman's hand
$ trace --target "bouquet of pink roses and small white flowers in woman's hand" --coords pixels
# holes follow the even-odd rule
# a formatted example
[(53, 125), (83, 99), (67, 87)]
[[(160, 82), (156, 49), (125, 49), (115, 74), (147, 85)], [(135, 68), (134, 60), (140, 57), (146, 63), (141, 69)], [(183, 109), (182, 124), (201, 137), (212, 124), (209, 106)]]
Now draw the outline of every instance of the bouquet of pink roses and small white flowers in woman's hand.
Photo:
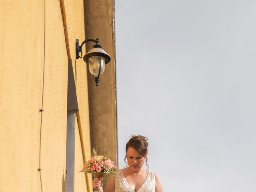
[(103, 174), (115, 174), (116, 166), (109, 158), (102, 155), (93, 156), (84, 164), (84, 172), (93, 174), (94, 176), (102, 176)]

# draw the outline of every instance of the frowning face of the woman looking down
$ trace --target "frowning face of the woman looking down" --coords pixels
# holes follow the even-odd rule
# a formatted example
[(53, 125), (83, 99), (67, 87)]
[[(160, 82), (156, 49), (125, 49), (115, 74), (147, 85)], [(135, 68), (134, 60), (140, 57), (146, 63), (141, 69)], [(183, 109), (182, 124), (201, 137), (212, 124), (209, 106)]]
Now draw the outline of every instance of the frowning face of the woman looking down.
[(142, 168), (144, 161), (146, 159), (146, 156), (142, 156), (139, 154), (136, 149), (133, 147), (128, 147), (127, 149), (127, 162), (128, 166), (132, 171), (138, 171), (140, 168)]

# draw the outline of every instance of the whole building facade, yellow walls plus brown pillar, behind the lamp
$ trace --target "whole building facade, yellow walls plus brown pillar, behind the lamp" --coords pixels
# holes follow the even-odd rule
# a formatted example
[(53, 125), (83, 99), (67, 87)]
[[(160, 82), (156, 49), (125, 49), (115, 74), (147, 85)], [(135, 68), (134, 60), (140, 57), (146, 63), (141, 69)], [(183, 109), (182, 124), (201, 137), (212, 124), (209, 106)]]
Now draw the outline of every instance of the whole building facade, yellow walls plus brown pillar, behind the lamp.
[[(117, 161), (113, 0), (2, 0), (0, 14), (0, 192), (91, 192), (92, 147)], [(96, 37), (112, 58), (97, 87), (75, 56)]]

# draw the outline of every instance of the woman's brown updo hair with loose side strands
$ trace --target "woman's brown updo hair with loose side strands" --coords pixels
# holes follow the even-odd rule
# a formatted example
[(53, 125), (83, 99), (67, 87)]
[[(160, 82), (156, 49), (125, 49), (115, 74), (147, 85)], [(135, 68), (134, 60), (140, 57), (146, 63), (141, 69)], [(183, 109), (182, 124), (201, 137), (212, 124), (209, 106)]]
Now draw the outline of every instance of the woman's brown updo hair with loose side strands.
[[(138, 151), (139, 154), (146, 157), (148, 154), (148, 138), (142, 135), (132, 135), (130, 140), (126, 143), (126, 147), (125, 147), (126, 155), (124, 157), (124, 161), (127, 158), (127, 150), (129, 147), (134, 148), (136, 151)], [(148, 158), (146, 157), (146, 165), (148, 167), (147, 162), (148, 162)]]

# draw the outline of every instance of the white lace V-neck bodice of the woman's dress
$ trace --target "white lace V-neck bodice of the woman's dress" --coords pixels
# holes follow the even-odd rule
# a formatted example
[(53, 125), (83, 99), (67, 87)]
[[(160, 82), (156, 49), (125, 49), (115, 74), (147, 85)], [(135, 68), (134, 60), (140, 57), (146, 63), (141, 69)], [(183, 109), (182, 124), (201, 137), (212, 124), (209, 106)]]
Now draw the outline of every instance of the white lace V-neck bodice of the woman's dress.
[[(155, 192), (155, 188), (155, 174), (153, 171), (148, 171), (145, 182), (142, 184), (141, 188), (137, 192)], [(126, 181), (122, 170), (119, 170), (116, 174), (115, 192), (134, 192), (134, 190), (132, 190), (132, 188)]]

